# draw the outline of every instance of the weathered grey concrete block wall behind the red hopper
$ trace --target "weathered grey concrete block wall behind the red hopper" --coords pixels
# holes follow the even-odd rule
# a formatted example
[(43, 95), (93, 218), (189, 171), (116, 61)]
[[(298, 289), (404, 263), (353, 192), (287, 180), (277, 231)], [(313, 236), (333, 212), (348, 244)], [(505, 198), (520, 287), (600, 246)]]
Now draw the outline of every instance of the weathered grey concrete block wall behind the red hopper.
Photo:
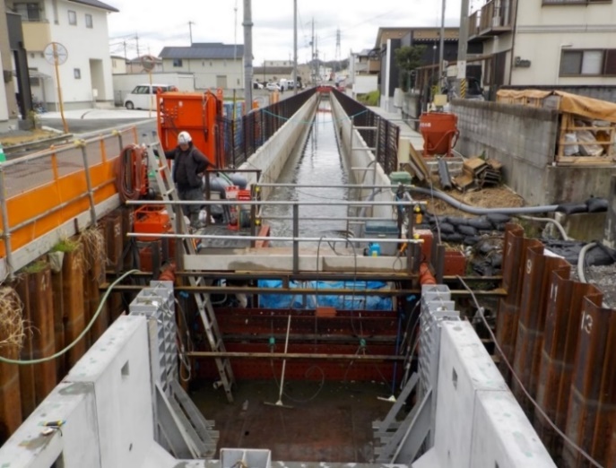
[[(456, 150), (464, 156), (486, 157), (502, 162), (508, 186), (527, 204), (545, 204), (547, 175), (554, 160), (558, 113), (496, 102), (454, 100), (460, 140)], [(550, 203), (550, 202), (548, 202)]]

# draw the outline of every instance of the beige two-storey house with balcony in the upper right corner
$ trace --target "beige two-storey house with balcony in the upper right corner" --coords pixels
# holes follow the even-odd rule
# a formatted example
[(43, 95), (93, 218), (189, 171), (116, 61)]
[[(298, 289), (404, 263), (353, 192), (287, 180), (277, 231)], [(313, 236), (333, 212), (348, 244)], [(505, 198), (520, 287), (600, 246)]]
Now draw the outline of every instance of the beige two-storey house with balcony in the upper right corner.
[(469, 18), (482, 42), (484, 83), (516, 87), (616, 84), (612, 0), (490, 0)]

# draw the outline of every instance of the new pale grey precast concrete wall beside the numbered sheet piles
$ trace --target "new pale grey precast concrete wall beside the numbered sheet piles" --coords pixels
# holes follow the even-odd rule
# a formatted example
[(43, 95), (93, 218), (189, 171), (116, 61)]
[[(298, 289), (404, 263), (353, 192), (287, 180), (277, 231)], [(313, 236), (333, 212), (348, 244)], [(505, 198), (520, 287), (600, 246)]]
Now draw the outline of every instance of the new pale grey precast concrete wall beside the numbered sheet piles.
[(440, 342), (435, 444), (412, 467), (556, 466), (473, 325), (444, 322)]

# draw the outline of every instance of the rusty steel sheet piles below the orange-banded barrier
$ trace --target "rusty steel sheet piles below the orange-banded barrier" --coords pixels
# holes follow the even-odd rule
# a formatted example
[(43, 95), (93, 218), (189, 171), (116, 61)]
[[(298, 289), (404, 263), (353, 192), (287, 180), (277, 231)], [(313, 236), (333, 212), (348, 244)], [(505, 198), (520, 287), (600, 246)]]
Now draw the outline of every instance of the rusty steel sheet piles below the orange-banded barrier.
[[(70, 251), (63, 253), (62, 263), (51, 268), (49, 256), (41, 256), (16, 275), (10, 287), (22, 301), (23, 320), (28, 328), (22, 350), (1, 349), (7, 358), (37, 360), (64, 350), (82, 334), (100, 307), (100, 284), (105, 279), (106, 264), (115, 271), (123, 269), (122, 226), (120, 214), (111, 214), (100, 222), (99, 247), (111, 249), (112, 262), (107, 264), (100, 250), (87, 236), (66, 242)], [(117, 255), (114, 251), (117, 249)], [(111, 321), (123, 311), (121, 293), (110, 295), (88, 334), (64, 355), (36, 365), (17, 366), (0, 363), (0, 445), (47, 397), (68, 370), (107, 330)], [(0, 333), (0, 342), (4, 336)]]

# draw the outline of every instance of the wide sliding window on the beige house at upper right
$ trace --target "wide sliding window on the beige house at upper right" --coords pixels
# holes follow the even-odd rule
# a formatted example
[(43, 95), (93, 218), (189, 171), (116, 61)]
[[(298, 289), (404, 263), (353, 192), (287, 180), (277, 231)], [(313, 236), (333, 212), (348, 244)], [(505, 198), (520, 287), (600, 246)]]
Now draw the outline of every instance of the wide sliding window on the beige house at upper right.
[(560, 76), (616, 75), (616, 48), (563, 50)]

